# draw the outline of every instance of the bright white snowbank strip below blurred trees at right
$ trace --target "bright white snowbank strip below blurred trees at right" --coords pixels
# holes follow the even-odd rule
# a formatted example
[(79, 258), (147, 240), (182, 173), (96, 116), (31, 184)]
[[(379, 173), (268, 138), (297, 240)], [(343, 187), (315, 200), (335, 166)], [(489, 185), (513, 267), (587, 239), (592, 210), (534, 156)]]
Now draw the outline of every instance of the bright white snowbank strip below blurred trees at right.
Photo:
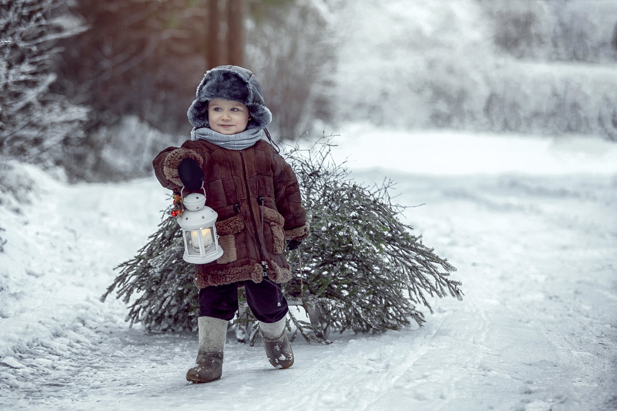
[(333, 149), (337, 161), (348, 159), (352, 169), (379, 167), (429, 175), (617, 172), (615, 144), (583, 135), (538, 138), (448, 130), (406, 133), (368, 123), (344, 125), (331, 133), (336, 135), (333, 143), (340, 146)]

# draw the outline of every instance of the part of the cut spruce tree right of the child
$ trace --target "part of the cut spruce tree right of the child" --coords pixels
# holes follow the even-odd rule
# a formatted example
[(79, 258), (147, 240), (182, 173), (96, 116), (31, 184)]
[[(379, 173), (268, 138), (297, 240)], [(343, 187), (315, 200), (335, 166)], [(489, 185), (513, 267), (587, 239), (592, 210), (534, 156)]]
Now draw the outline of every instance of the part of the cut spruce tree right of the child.
[(397, 329), (411, 320), (422, 325), (416, 306), (432, 311), (427, 296), (462, 297), (461, 283), (449, 279), (455, 268), (399, 221), (405, 207), (392, 203), (391, 182), (373, 189), (358, 184), (334, 163), (328, 144), (296, 149), (288, 158), (311, 215), (311, 235), (299, 257), (288, 255), (299, 274), (286, 292), (315, 310), (318, 331)]

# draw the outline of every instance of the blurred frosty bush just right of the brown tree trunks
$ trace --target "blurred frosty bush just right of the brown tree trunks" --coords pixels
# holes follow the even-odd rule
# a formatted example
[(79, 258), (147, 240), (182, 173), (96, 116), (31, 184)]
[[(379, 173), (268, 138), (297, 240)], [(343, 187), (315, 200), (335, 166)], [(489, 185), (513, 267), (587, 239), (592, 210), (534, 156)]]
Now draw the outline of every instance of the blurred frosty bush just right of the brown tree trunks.
[[(246, 61), (259, 73), (268, 108), (268, 127), (286, 141), (310, 135), (315, 124), (333, 120), (336, 44), (325, 1), (278, 0), (276, 7), (252, 7), (247, 23)], [(319, 126), (318, 126), (319, 127)]]

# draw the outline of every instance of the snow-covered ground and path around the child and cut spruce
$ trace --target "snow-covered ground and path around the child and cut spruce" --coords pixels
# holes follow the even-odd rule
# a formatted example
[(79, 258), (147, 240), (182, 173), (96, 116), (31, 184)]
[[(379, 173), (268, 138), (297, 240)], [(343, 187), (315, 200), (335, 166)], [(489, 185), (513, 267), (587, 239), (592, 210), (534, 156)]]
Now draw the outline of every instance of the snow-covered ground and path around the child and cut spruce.
[(616, 144), (337, 133), (354, 178), (418, 205), (402, 218), (458, 267), (463, 301), (432, 301), (423, 328), (296, 339), (289, 370), (230, 331), (223, 378), (189, 384), (195, 335), (128, 328), (125, 304), (99, 301), (165, 190), (18, 167), (33, 189), (0, 205), (0, 409), (617, 410)]

